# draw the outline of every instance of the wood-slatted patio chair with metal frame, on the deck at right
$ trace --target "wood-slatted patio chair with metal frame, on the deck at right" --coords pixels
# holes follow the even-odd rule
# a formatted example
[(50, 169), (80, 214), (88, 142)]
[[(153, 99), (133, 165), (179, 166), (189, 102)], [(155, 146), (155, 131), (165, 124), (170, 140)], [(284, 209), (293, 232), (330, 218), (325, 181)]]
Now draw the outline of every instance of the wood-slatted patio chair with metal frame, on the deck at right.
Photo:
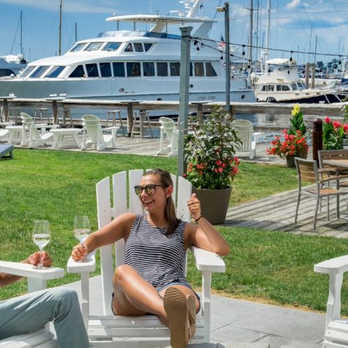
[[(299, 212), (299, 205), (301, 196), (308, 196), (317, 199), (317, 204), (315, 207), (314, 221), (313, 221), (313, 230), (315, 230), (317, 226), (317, 214), (319, 209), (319, 203), (322, 198), (326, 198), (326, 219), (329, 221), (330, 219), (330, 210), (329, 210), (329, 198), (336, 197), (336, 216), (340, 217), (340, 196), (347, 195), (348, 191), (340, 191), (338, 189), (338, 177), (335, 175), (327, 176), (326, 179), (323, 179), (324, 171), (318, 171), (317, 161), (310, 161), (308, 159), (300, 159), (299, 157), (295, 157), (295, 165), (297, 171), (297, 178), (299, 180), (299, 193), (297, 196), (297, 204), (296, 204), (296, 213), (295, 213), (295, 223), (297, 222), (297, 214)], [(340, 178), (348, 178), (348, 175), (341, 176)], [(308, 189), (302, 188), (302, 181), (306, 182), (315, 182), (316, 187), (310, 187)], [(323, 184), (329, 184), (329, 182), (335, 182), (336, 187), (327, 187), (323, 186)]]

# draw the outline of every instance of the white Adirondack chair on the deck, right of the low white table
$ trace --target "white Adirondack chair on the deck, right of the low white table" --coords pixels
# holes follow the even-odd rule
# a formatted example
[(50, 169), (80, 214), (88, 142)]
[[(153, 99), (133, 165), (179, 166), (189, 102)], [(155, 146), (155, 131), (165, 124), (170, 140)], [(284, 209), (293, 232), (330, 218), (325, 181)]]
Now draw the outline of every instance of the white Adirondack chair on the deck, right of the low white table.
[[(112, 145), (112, 148), (116, 148), (116, 132), (119, 127), (114, 126), (102, 129), (100, 118), (94, 115), (82, 116), (82, 125), (84, 126), (84, 136), (81, 150), (86, 150), (92, 145), (97, 151), (102, 151), (109, 145)], [(108, 131), (111, 131), (111, 134), (104, 134), (104, 132)]]

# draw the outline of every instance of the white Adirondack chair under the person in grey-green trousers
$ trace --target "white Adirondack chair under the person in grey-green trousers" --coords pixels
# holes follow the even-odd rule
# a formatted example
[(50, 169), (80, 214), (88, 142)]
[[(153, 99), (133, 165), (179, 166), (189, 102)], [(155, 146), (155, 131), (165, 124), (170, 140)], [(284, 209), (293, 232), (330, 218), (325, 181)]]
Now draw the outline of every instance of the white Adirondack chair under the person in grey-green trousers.
[[(62, 268), (49, 267), (45, 269), (34, 269), (31, 264), (6, 261), (0, 261), (0, 272), (28, 278), (29, 292), (45, 289), (47, 280), (62, 278), (64, 276), (64, 269)], [(0, 348), (4, 347), (56, 348), (58, 345), (54, 339), (54, 334), (49, 331), (49, 326), (47, 325), (47, 327), (35, 332), (11, 336), (0, 340)]]

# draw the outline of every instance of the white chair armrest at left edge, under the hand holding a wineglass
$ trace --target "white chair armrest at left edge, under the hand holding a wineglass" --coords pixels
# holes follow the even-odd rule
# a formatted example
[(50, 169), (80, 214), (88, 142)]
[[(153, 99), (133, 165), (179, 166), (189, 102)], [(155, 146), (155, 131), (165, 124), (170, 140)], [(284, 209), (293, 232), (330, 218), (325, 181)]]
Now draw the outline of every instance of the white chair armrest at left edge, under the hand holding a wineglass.
[(32, 264), (21, 262), (0, 261), (0, 271), (13, 276), (40, 278), (42, 280), (63, 278), (64, 276), (63, 268), (45, 267), (43, 269), (35, 269)]

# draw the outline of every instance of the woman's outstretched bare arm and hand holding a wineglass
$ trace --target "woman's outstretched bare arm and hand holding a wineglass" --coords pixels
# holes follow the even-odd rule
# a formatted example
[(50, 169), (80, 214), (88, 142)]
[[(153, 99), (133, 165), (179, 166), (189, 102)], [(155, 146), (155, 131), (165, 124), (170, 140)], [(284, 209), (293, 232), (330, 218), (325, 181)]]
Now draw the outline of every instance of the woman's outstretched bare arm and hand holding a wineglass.
[(136, 214), (125, 213), (113, 219), (100, 230), (90, 233), (83, 244), (77, 244), (72, 249), (72, 258), (82, 260), (85, 256), (100, 246), (117, 242), (121, 238), (127, 238)]

